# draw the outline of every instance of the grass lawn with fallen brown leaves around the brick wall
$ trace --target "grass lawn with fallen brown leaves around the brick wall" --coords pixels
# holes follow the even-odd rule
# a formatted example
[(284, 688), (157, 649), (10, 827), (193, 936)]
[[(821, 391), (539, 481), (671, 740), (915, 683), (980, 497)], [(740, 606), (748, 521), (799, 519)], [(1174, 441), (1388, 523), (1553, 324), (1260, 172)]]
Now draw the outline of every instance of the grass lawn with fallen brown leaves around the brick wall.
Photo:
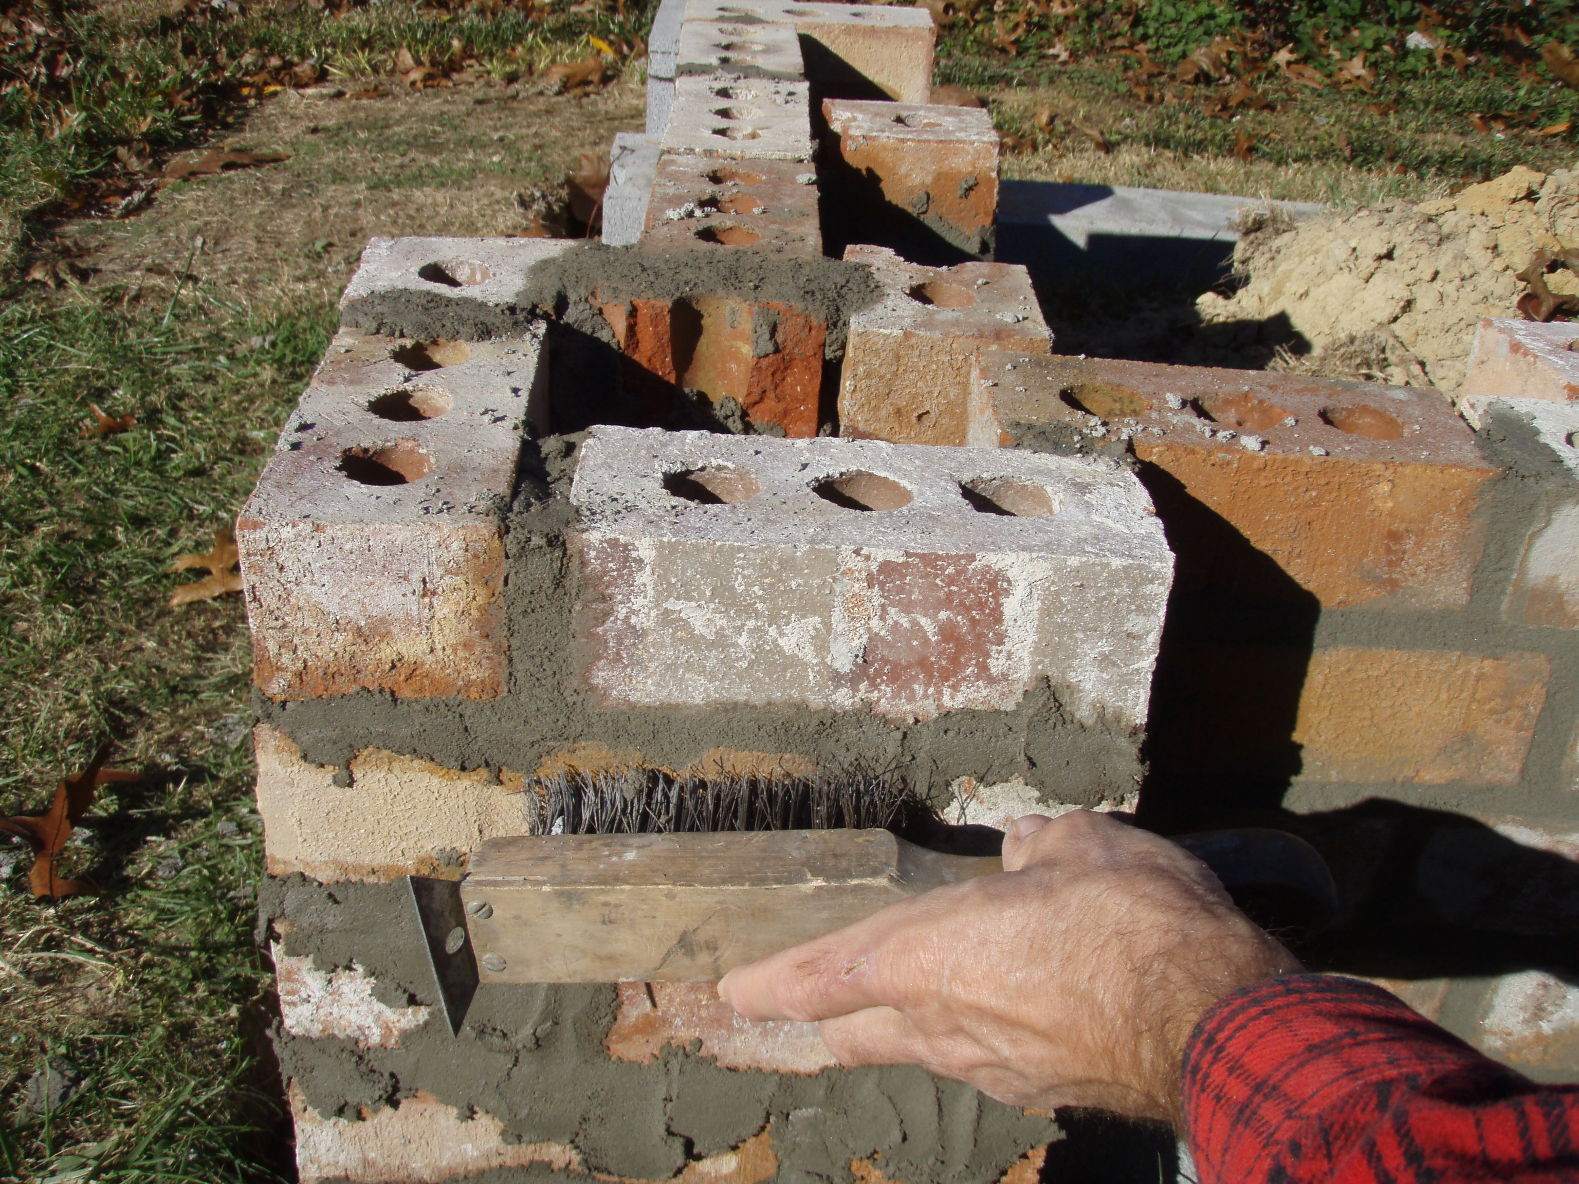
[[(938, 82), (985, 98), (1012, 177), (1369, 202), (1573, 156), (1562, 3), (1503, 33), (1339, 5), (1282, 65), (1225, 5), (1164, 8), (940, 3)], [(0, 0), (0, 810), (43, 811), (104, 740), (139, 775), (62, 856), (98, 895), (35, 901), (0, 845), (0, 1178), (291, 1178), (245, 616), (172, 608), (201, 573), (169, 568), (234, 519), (366, 238), (537, 229), (579, 152), (641, 125), (649, 17)], [(1404, 49), (1420, 27), (1440, 54)], [(591, 58), (602, 84), (557, 93)], [(207, 148), (284, 159), (159, 183)], [(85, 433), (90, 404), (133, 423)]]

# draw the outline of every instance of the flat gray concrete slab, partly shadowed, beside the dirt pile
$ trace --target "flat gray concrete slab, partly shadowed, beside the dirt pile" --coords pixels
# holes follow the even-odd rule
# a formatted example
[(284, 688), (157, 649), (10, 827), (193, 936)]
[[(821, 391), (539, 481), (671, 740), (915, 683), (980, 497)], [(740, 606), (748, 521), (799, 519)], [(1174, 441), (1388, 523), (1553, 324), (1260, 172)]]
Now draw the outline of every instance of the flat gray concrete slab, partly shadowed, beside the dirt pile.
[[(1219, 283), (1255, 197), (1121, 185), (1003, 182), (998, 259), (1023, 264), (1037, 287), (1096, 281), (1132, 289), (1203, 292)], [(1311, 218), (1314, 202), (1273, 202)]]

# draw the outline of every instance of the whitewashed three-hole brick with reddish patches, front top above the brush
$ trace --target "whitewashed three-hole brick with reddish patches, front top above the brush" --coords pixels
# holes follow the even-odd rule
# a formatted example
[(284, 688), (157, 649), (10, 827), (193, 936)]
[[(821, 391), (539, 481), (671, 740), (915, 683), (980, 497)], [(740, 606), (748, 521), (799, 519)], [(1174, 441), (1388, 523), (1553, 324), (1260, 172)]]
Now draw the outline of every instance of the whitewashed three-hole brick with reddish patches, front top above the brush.
[(1116, 466), (597, 428), (572, 502), (605, 704), (1146, 718), (1172, 556)]

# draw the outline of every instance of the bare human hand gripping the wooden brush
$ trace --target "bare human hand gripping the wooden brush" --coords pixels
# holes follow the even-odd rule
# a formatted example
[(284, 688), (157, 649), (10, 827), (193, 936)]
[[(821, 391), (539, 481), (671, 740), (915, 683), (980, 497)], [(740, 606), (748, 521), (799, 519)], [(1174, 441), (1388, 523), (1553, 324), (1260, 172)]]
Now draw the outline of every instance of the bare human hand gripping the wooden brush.
[(846, 1066), (1180, 1126), (1197, 1020), (1300, 963), (1184, 848), (1105, 815), (1020, 818), (1003, 865), (733, 969), (718, 995), (752, 1020), (820, 1020)]

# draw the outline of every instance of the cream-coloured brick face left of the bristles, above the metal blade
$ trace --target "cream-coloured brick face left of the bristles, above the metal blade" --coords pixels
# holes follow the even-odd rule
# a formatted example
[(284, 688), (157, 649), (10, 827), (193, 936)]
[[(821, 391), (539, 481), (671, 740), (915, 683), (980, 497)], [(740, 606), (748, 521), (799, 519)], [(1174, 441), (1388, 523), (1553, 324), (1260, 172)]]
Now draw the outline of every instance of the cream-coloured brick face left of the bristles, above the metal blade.
[[(338, 770), (311, 764), (284, 733), (253, 731), (268, 873), (319, 881), (442, 875), (485, 838), (526, 834), (521, 778), (458, 772), (365, 748)], [(452, 873), (453, 875), (453, 873)]]

